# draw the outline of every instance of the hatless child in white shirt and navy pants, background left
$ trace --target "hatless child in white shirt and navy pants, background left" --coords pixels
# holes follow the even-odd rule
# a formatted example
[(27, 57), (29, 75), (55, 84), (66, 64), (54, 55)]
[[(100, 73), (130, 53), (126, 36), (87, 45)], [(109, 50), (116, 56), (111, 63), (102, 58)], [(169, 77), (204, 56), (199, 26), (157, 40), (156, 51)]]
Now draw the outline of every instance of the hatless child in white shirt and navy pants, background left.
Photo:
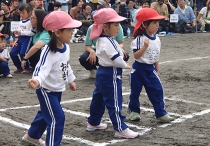
[[(24, 70), (21, 68), (21, 61), (27, 51), (31, 47), (32, 37), (34, 35), (34, 32), (32, 31), (32, 25), (30, 22), (30, 16), (32, 13), (32, 8), (29, 4), (22, 4), (19, 8), (19, 13), (21, 17), (21, 21), (19, 23), (19, 30), (15, 30), (14, 34), (18, 36), (17, 45), (15, 45), (11, 52), (10, 56), (12, 58), (12, 61), (14, 65), (16, 66), (16, 70), (14, 73), (29, 73), (29, 62), (27, 62), (27, 65), (25, 66)], [(20, 56), (20, 59), (18, 57)]]

